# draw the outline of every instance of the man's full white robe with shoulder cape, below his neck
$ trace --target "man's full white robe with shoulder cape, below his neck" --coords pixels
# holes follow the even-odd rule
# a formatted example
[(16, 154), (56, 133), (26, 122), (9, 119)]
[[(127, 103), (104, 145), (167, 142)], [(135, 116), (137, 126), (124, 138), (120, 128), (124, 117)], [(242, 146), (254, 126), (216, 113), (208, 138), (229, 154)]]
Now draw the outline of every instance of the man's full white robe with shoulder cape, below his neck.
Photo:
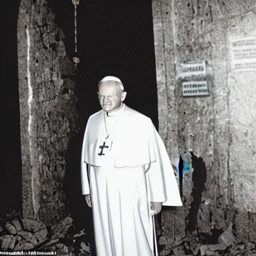
[(152, 256), (150, 202), (181, 206), (176, 178), (150, 118), (125, 104), (108, 114), (100, 110), (89, 117), (81, 154), (96, 254)]

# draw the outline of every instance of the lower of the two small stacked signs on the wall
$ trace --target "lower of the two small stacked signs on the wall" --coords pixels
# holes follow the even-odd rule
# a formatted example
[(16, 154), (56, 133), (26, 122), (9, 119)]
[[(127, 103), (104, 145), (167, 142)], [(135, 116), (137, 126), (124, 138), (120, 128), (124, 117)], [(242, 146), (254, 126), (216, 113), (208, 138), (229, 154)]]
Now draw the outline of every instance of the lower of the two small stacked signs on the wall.
[(207, 81), (187, 81), (182, 82), (183, 96), (201, 96), (208, 95)]

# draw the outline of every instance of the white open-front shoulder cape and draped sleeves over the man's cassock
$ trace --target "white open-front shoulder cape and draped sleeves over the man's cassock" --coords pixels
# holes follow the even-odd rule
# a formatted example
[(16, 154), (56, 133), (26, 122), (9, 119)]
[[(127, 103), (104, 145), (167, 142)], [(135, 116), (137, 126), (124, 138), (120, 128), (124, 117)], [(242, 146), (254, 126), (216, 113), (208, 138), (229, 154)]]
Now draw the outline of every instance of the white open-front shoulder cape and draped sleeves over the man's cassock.
[[(81, 155), (82, 193), (89, 193), (86, 164), (101, 166), (99, 145), (105, 136), (104, 111), (88, 119)], [(152, 121), (147, 116), (124, 106), (114, 130), (111, 147), (116, 168), (144, 166), (148, 201), (181, 206), (179, 189), (166, 148)]]

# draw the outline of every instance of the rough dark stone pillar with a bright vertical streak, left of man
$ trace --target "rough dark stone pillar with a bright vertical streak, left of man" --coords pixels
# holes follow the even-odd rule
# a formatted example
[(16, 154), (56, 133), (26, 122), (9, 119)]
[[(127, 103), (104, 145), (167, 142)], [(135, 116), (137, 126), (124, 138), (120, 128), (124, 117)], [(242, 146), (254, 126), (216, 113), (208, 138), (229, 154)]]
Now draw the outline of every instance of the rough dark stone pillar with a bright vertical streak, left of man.
[(46, 0), (21, 0), (17, 24), (23, 217), (53, 223), (69, 137), (77, 130), (74, 64)]

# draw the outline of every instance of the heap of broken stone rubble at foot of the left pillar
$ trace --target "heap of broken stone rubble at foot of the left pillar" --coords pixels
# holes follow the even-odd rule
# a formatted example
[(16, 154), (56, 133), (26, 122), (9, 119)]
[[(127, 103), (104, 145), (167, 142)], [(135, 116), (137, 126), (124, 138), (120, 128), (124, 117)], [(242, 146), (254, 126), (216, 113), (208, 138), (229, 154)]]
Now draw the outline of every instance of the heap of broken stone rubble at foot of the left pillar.
[[(51, 227), (29, 218), (14, 218), (0, 226), (2, 251), (55, 251), (58, 255), (91, 255), (84, 230), (74, 233), (70, 216)], [(78, 244), (77, 244), (78, 243)]]

